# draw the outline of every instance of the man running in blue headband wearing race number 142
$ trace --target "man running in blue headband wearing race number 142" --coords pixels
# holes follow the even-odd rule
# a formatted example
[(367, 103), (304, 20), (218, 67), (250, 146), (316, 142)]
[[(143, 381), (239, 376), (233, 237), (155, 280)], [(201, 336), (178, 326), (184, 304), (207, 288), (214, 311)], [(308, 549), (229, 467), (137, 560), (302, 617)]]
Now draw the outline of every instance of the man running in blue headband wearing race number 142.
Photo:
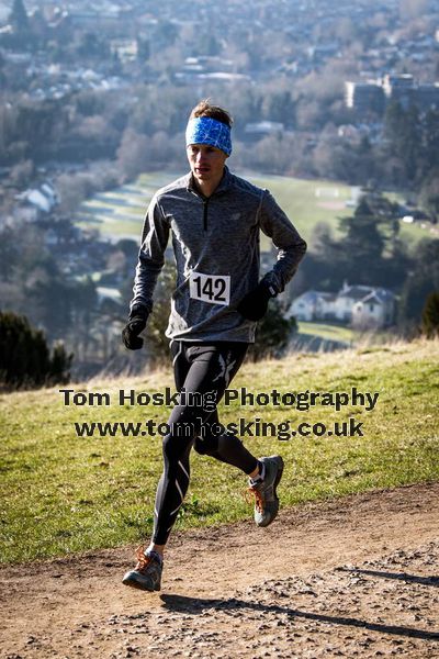
[[(127, 348), (142, 347), (139, 334), (153, 310), (153, 292), (171, 235), (177, 282), (166, 336), (171, 339), (181, 395), (168, 422), (170, 433), (164, 437), (165, 466), (151, 543), (137, 549), (137, 565), (123, 578), (124, 584), (142, 590), (160, 589), (164, 549), (189, 487), (192, 446), (249, 477), (258, 526), (271, 524), (279, 510), (282, 458), (257, 459), (238, 437), (219, 434), (216, 403), (255, 340), (257, 321), (295, 272), (306, 244), (267, 190), (226, 167), (230, 127), (230, 115), (209, 101), (192, 110), (185, 132), (191, 171), (158, 190), (149, 204), (134, 298), (122, 333)], [(259, 281), (260, 230), (272, 238), (278, 259)], [(206, 404), (212, 395), (214, 405)]]

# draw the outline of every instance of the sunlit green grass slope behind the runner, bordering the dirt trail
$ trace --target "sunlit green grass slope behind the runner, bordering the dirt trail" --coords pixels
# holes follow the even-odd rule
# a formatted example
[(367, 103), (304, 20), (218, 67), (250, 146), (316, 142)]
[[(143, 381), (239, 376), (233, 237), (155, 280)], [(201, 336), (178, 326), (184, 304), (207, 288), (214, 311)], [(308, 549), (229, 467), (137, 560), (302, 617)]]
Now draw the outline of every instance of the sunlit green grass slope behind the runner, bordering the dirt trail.
[[(248, 437), (256, 455), (280, 453), (285, 472), (282, 505), (341, 496), (375, 488), (437, 480), (439, 342), (364, 347), (329, 355), (292, 355), (282, 361), (245, 365), (233, 388), (261, 392), (379, 392), (376, 407), (337, 412), (330, 406), (222, 405), (223, 423), (243, 416), (266, 422), (329, 424), (353, 416), (364, 436)], [(74, 422), (146, 418), (167, 421), (159, 406), (119, 406), (115, 392), (162, 391), (170, 371), (146, 378), (75, 386), (113, 393), (110, 406), (66, 406), (57, 389), (0, 396), (1, 561), (65, 556), (147, 539), (161, 471), (159, 437), (80, 438)], [(74, 387), (70, 387), (74, 388)], [(192, 479), (177, 528), (235, 522), (251, 516), (243, 474), (192, 455)]]

